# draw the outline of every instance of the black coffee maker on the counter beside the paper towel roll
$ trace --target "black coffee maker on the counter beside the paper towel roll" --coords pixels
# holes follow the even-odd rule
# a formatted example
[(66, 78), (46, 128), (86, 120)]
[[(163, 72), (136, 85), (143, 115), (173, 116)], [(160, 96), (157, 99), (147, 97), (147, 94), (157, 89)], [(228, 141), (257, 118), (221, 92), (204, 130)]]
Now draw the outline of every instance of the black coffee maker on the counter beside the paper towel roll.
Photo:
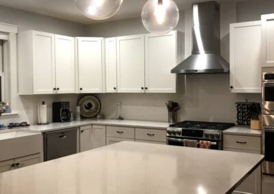
[(53, 122), (71, 122), (71, 111), (69, 110), (69, 102), (53, 102), (52, 116)]

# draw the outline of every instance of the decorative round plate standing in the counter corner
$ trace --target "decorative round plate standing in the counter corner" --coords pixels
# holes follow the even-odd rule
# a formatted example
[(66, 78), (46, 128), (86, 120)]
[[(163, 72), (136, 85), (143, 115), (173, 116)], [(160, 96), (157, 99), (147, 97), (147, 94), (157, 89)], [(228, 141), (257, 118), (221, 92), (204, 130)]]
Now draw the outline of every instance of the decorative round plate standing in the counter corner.
[(96, 117), (101, 110), (101, 102), (95, 96), (84, 96), (78, 102), (82, 117)]

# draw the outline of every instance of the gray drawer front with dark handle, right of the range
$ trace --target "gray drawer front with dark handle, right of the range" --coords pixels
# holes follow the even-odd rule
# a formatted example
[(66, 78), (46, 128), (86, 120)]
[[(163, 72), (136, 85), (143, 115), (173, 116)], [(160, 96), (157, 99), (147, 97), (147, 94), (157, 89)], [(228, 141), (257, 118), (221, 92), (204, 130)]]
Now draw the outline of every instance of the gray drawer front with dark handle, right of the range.
[(223, 135), (223, 148), (233, 148), (240, 150), (261, 150), (260, 137), (245, 135)]

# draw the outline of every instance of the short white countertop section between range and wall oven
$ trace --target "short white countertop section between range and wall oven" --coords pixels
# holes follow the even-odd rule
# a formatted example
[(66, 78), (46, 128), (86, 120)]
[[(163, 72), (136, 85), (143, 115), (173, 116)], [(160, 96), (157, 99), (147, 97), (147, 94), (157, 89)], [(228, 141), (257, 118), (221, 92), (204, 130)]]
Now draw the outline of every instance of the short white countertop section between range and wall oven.
[(229, 135), (249, 135), (249, 136), (259, 136), (261, 137), (261, 130), (251, 130), (247, 126), (234, 126), (223, 131), (223, 134)]

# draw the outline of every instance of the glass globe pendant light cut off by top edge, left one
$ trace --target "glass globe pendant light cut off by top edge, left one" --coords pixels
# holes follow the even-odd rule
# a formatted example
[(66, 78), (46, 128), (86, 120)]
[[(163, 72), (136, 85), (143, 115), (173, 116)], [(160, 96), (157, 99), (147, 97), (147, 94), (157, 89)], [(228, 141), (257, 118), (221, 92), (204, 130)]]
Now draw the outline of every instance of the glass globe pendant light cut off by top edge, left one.
[(75, 0), (75, 3), (88, 18), (105, 20), (118, 12), (123, 0)]

